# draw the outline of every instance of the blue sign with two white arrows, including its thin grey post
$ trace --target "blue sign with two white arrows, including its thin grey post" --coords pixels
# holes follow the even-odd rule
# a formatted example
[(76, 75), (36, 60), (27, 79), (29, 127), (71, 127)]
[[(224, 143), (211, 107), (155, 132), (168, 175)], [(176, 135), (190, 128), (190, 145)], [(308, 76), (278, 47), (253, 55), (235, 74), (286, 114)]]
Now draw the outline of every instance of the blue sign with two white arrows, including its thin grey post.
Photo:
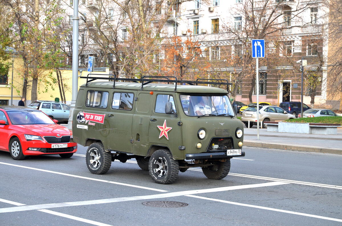
[(265, 40), (252, 39), (252, 57), (257, 58), (257, 133), (259, 140), (259, 58), (265, 57)]

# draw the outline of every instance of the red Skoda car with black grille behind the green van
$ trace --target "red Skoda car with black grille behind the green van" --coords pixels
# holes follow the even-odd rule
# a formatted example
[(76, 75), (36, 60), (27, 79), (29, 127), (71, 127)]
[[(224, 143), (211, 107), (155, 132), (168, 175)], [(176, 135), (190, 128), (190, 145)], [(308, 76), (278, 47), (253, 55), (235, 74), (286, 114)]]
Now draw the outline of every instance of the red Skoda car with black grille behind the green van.
[(20, 106), (0, 106), (0, 151), (15, 160), (27, 155), (70, 158), (77, 151), (73, 134), (43, 112)]

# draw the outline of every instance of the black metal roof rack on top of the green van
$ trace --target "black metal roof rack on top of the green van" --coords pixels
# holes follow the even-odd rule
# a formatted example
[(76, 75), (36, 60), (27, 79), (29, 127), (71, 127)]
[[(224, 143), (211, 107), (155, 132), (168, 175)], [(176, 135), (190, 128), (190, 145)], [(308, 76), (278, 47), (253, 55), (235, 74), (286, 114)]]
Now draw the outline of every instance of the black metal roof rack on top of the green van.
[[(96, 75), (96, 76), (92, 76)], [(98, 77), (101, 76), (108, 76), (108, 77)], [(93, 82), (97, 79), (113, 81), (113, 88), (115, 88), (115, 81), (128, 81), (128, 82), (135, 82), (141, 83), (141, 89), (143, 89), (144, 85), (152, 83), (152, 82), (167, 82), (168, 84), (174, 83), (175, 88), (174, 91), (177, 89), (177, 84), (189, 84), (189, 85), (198, 85), (198, 84), (211, 84), (211, 85), (232, 85), (229, 83), (227, 79), (196, 79), (196, 81), (188, 81), (188, 80), (178, 80), (174, 76), (156, 76), (156, 75), (145, 75), (141, 79), (127, 79), (127, 78), (117, 78), (114, 74), (88, 74), (87, 76), (80, 76), (81, 79), (87, 79), (86, 86), (88, 86), (89, 82)]]

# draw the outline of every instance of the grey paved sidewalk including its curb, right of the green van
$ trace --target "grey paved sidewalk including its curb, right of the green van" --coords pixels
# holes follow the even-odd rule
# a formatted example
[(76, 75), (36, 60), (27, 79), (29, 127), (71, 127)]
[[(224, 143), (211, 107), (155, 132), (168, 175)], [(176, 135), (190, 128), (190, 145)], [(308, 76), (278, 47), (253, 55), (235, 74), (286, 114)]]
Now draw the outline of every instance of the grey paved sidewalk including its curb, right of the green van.
[(283, 150), (342, 154), (342, 128), (337, 135), (267, 132), (267, 129), (244, 128), (244, 146)]

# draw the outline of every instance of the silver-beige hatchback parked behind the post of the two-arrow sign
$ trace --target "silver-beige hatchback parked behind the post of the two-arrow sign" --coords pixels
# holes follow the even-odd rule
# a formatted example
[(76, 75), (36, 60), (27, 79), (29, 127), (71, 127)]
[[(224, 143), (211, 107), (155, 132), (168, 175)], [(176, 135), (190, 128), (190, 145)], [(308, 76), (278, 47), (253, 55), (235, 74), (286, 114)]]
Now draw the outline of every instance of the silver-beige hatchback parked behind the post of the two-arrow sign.
[[(291, 118), (296, 117), (277, 106), (259, 106), (259, 120), (262, 122), (262, 128), (267, 128), (267, 125), (264, 124), (265, 122), (283, 121)], [(246, 125), (246, 127), (248, 127), (248, 121), (249, 127), (257, 125), (257, 105), (252, 105), (242, 112), (241, 121)]]

